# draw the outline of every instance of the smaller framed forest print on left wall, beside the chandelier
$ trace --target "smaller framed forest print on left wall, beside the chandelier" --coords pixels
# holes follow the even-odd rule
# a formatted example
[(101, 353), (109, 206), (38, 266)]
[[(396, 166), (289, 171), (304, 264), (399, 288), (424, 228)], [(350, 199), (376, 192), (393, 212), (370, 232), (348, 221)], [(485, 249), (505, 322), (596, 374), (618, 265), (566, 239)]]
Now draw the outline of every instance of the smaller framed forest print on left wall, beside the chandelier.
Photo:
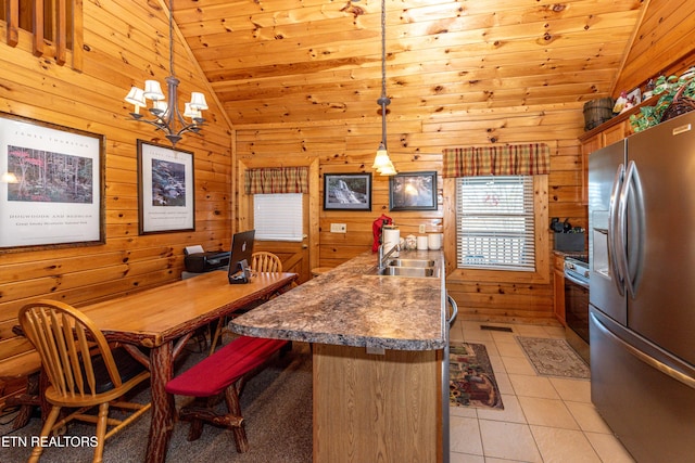
[(193, 153), (138, 140), (140, 234), (195, 230)]

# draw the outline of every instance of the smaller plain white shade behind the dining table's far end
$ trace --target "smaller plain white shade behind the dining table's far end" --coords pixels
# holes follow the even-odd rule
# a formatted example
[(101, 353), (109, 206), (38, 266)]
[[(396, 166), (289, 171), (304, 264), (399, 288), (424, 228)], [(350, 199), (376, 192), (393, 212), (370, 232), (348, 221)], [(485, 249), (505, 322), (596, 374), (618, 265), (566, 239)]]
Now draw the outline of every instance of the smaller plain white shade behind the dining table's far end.
[(260, 241), (302, 241), (301, 193), (254, 194), (253, 228)]

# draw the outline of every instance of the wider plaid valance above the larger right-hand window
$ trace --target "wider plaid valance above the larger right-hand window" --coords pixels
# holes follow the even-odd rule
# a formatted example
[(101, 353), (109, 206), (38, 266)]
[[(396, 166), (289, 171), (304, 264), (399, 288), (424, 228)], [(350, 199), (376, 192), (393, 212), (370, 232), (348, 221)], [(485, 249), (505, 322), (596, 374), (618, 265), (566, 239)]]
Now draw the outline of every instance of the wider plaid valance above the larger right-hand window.
[(551, 170), (545, 143), (447, 147), (443, 177), (538, 176)]

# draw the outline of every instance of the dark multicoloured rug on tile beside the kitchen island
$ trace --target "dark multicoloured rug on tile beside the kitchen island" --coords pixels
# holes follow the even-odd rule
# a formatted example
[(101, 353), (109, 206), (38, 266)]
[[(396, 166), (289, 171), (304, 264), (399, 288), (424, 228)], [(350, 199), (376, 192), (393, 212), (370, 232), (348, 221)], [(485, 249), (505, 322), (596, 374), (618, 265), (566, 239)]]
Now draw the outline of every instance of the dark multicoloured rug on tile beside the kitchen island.
[(504, 409), (484, 345), (452, 343), (448, 375), (448, 401), (452, 406)]

